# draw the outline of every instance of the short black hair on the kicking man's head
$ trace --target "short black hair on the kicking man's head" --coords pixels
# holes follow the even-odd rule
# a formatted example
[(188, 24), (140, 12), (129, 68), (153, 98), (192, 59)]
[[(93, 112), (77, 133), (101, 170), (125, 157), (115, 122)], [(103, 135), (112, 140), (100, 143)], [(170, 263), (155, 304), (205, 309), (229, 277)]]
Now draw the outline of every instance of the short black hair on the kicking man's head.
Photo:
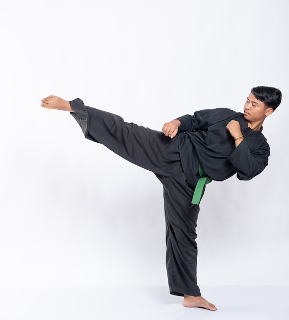
[(267, 108), (275, 110), (281, 103), (282, 94), (279, 89), (258, 86), (252, 88), (251, 93), (257, 100), (262, 101)]

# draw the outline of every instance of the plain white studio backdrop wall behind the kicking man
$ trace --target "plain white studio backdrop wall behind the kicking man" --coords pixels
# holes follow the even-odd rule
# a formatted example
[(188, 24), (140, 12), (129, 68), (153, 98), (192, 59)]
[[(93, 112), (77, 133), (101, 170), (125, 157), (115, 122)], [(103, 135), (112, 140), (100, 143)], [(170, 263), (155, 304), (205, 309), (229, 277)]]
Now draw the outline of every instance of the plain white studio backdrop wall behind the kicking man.
[(289, 284), (286, 0), (6, 1), (1, 27), (1, 287), (163, 286), (162, 186), (83, 138), (86, 105), (161, 130), (205, 108), (243, 111), (253, 86), (282, 90), (264, 123), (269, 166), (208, 185), (199, 285)]

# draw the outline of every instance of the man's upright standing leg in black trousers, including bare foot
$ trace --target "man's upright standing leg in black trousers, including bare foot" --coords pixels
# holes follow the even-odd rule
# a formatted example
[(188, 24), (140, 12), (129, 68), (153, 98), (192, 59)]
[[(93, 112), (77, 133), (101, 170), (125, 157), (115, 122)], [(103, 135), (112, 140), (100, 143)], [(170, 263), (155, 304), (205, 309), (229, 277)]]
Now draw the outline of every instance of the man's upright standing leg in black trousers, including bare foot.
[(163, 184), (166, 222), (166, 269), (171, 294), (184, 296), (185, 307), (216, 310), (197, 285), (196, 227), (199, 205), (191, 205), (191, 188), (179, 167), (171, 177), (156, 175)]

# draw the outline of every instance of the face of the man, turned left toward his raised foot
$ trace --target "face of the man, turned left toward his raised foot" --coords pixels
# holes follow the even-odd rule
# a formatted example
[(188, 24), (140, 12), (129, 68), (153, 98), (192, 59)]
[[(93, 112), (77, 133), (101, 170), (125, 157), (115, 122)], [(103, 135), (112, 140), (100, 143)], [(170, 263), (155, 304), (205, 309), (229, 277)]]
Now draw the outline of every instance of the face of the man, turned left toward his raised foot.
[(244, 105), (244, 117), (248, 122), (263, 122), (272, 112), (272, 108), (267, 108), (262, 101), (257, 100), (255, 96), (250, 93)]

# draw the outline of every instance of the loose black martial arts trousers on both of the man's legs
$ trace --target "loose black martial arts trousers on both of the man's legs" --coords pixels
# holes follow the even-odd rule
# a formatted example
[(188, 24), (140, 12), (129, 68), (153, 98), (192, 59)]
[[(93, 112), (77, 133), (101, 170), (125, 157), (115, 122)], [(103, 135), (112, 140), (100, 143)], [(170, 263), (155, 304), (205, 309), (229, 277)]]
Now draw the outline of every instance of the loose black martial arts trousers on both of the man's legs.
[(201, 295), (197, 285), (196, 226), (199, 206), (190, 201), (179, 154), (179, 136), (124, 122), (112, 113), (70, 101), (71, 113), (87, 139), (98, 142), (129, 162), (152, 171), (163, 185), (166, 222), (166, 269), (170, 292)]

